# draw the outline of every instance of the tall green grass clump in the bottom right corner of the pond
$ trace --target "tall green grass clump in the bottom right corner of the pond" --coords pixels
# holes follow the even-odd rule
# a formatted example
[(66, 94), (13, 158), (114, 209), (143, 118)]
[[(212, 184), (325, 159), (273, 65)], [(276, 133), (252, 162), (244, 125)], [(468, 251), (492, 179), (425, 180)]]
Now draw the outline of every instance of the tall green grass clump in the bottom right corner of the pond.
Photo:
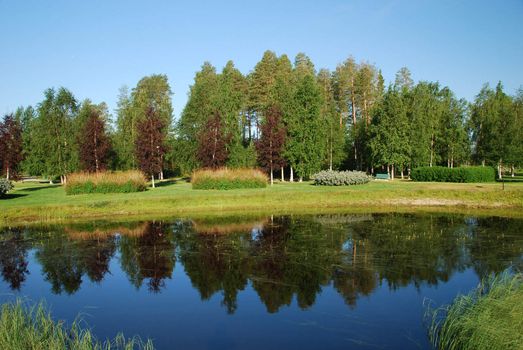
[(437, 349), (523, 349), (523, 275), (492, 277), (429, 315)]

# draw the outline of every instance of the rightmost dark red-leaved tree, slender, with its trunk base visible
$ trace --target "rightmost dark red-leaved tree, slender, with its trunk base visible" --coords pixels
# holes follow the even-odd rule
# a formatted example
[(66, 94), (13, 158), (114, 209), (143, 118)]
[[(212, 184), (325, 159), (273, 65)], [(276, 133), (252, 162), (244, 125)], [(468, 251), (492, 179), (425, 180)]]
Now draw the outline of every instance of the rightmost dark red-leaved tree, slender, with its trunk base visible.
[(265, 113), (265, 121), (260, 127), (261, 138), (256, 142), (258, 162), (269, 172), (271, 185), (273, 184), (273, 171), (285, 166), (283, 146), (285, 145), (286, 131), (282, 123), (281, 110), (271, 106)]

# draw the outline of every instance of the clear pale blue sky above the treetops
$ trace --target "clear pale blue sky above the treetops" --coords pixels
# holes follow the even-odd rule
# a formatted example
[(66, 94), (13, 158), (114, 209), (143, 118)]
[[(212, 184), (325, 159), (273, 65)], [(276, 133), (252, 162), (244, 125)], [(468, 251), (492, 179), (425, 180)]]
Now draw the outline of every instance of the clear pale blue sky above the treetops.
[(179, 117), (204, 61), (243, 72), (265, 50), (309, 55), (334, 69), (350, 55), (388, 82), (407, 66), (472, 100), (501, 80), (523, 84), (523, 1), (0, 0), (0, 113), (34, 105), (48, 87), (105, 101), (149, 74), (167, 74)]

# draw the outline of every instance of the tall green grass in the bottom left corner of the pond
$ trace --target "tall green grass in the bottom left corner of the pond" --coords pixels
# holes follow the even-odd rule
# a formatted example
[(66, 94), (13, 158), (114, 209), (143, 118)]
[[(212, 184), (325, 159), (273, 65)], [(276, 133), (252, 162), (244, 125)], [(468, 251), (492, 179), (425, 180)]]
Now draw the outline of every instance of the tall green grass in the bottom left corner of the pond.
[(24, 350), (109, 350), (154, 349), (152, 341), (138, 337), (125, 339), (118, 334), (114, 340), (97, 340), (88, 328), (75, 321), (71, 327), (55, 322), (45, 305), (27, 305), (20, 300), (2, 305), (0, 315), (0, 349)]

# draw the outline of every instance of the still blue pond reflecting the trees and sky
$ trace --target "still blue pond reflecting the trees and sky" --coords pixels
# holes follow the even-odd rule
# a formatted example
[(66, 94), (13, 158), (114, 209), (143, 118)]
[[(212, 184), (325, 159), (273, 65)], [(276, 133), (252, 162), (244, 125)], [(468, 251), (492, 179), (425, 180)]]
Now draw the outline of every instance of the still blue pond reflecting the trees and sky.
[(429, 349), (427, 303), (523, 269), (523, 220), (441, 214), (8, 228), (0, 301), (158, 349)]

